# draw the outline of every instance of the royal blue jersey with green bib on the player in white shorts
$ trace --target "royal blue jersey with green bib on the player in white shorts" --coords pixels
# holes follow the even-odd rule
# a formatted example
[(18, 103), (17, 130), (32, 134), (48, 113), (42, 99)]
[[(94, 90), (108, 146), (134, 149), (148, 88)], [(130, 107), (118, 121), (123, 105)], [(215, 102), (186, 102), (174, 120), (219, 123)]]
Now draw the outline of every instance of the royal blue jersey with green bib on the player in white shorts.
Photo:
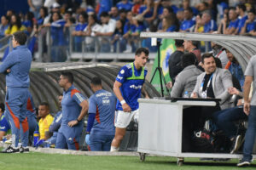
[[(131, 111), (136, 111), (138, 109), (137, 99), (140, 98), (143, 83), (145, 82), (145, 77), (148, 73), (146, 68), (142, 68), (140, 71), (137, 71), (133, 63), (123, 66), (116, 81), (122, 83), (122, 86), (119, 88), (123, 98), (127, 105), (131, 107)], [(116, 109), (123, 111), (122, 105), (119, 100), (116, 105)]]

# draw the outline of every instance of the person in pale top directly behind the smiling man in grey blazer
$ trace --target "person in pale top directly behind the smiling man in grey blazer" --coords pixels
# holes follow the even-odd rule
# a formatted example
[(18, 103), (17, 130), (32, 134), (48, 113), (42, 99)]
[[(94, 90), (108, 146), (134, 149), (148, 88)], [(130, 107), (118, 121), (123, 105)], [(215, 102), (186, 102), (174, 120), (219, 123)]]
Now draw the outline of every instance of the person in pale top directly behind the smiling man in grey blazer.
[(220, 59), (222, 68), (225, 68), (225, 65), (227, 65), (229, 61), (226, 51), (224, 50), (224, 48), (222, 48), (220, 45), (218, 45), (215, 42), (211, 42), (211, 46), (212, 46), (212, 55), (215, 58)]

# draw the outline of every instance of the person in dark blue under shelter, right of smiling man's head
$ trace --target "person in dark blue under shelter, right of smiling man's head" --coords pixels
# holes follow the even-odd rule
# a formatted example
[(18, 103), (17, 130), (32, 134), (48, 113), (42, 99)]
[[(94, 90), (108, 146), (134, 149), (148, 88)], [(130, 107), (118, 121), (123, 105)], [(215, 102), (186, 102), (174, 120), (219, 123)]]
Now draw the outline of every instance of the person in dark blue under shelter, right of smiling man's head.
[(230, 50), (226, 49), (227, 57), (229, 59), (228, 64), (225, 66), (225, 69), (229, 70), (231, 75), (236, 77), (236, 79), (240, 82), (241, 88), (244, 83), (243, 71), (241, 69), (241, 65), (239, 65), (238, 61), (234, 57), (234, 55), (230, 52)]

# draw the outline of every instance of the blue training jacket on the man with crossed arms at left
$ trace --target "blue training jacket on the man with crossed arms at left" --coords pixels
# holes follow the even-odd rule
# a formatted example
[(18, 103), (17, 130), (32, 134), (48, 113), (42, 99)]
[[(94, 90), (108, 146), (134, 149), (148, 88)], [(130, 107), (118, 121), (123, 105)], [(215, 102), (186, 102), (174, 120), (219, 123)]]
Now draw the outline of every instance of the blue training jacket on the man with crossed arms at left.
[[(14, 48), (0, 65), (0, 72), (6, 74), (6, 86), (28, 88), (31, 63), (32, 54), (25, 45)], [(6, 72), (8, 69), (9, 73)]]

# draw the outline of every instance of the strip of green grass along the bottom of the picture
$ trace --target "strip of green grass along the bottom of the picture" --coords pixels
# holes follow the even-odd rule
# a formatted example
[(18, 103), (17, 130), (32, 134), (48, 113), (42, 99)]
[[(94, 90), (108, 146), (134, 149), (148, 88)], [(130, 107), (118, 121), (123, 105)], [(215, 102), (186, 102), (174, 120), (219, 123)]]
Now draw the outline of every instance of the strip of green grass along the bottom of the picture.
[[(236, 167), (237, 160), (216, 162), (186, 158), (183, 166), (177, 167), (174, 157), (146, 156), (140, 161), (138, 156), (73, 156), (60, 154), (0, 154), (0, 170), (165, 170), (165, 169), (209, 169), (228, 170)], [(246, 169), (256, 169), (256, 165)]]

